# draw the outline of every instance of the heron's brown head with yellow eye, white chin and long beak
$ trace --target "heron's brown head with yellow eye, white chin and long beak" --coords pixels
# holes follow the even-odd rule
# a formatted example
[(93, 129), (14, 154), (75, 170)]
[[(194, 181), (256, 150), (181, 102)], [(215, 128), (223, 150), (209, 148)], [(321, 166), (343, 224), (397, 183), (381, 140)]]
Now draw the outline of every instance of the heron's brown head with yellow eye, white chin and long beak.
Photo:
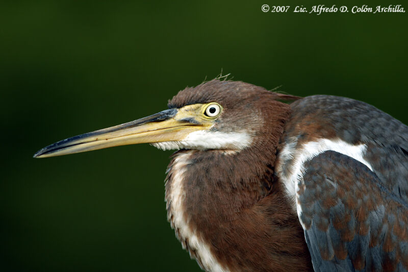
[(212, 80), (180, 91), (169, 101), (167, 110), (56, 142), (38, 151), (34, 157), (54, 157), (135, 143), (151, 143), (163, 150), (239, 152), (254, 141), (266, 144), (264, 141), (268, 139), (262, 139), (273, 135), (274, 123), (282, 127), (288, 110), (286, 104), (277, 100), (287, 98), (296, 97), (243, 82)]

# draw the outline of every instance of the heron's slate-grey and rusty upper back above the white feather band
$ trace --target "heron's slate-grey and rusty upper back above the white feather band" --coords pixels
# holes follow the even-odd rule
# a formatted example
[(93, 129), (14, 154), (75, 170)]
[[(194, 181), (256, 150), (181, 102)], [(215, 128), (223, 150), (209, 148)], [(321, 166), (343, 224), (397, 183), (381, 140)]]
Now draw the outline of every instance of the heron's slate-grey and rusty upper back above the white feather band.
[(382, 184), (408, 201), (408, 127), (367, 103), (350, 98), (313, 95), (291, 104), (284, 138), (307, 142), (339, 138), (365, 144), (364, 159)]

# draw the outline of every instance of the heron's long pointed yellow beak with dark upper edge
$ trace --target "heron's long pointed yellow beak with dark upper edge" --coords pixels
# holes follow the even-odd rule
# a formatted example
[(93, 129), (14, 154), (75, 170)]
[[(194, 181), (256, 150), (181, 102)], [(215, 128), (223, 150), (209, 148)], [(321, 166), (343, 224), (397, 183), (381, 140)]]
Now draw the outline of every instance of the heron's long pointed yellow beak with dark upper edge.
[(74, 136), (44, 147), (34, 155), (34, 158), (61, 156), (126, 144), (179, 141), (193, 131), (207, 128), (191, 122), (192, 118), (186, 118), (186, 112), (191, 117), (191, 110), (194, 111), (194, 109), (164, 110), (122, 125)]

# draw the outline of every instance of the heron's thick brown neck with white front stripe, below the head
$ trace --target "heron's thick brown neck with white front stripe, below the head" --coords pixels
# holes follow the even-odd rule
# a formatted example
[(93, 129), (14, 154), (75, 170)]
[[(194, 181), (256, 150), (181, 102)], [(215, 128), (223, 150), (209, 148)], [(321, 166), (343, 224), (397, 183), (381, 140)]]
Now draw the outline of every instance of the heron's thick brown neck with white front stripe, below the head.
[[(283, 123), (268, 135), (278, 138)], [(203, 269), (310, 269), (297, 216), (273, 180), (278, 139), (272, 136), (239, 153), (175, 153), (166, 183), (168, 219)]]

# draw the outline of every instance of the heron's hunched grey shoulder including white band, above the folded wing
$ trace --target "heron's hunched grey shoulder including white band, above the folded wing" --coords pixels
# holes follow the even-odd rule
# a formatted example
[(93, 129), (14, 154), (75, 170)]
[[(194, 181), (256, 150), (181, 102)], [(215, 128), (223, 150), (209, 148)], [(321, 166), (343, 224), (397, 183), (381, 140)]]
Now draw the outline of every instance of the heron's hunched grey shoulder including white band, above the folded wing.
[(372, 105), (339, 96), (304, 97), (291, 110), (278, 147), (280, 175), (333, 150), (363, 162), (383, 186), (408, 201), (406, 125)]

